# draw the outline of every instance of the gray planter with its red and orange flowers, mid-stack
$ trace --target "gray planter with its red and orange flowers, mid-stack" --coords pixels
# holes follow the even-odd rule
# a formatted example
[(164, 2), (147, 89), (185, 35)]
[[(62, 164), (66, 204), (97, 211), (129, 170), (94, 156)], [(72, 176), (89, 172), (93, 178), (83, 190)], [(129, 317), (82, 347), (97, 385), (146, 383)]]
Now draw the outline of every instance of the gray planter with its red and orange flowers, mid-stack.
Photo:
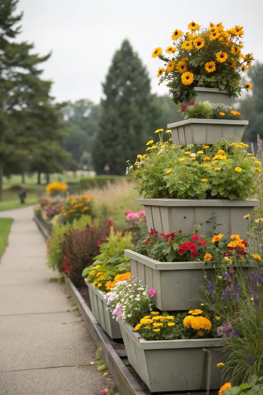
[(231, 235), (232, 241), (227, 243), (222, 234), (204, 237), (174, 231), (162, 233), (160, 240), (156, 234), (149, 232), (135, 251), (125, 250), (125, 255), (130, 258), (131, 275), (156, 290), (155, 306), (160, 310), (197, 308), (200, 302), (194, 296), (199, 288), (224, 278), (229, 264), (241, 265), (248, 277), (251, 267), (257, 267), (248, 243), (239, 235)]

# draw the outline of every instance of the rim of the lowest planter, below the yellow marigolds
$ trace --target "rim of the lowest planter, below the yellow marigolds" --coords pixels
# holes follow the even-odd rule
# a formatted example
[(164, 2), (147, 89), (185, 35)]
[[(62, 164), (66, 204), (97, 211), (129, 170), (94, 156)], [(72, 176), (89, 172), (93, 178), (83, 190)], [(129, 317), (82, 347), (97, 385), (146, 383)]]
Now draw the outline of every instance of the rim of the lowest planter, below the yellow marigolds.
[(164, 348), (203, 348), (222, 346), (222, 339), (179, 339), (179, 340), (145, 340), (138, 339), (138, 334), (134, 334), (134, 329), (128, 322), (118, 320), (119, 325), (123, 327), (127, 335), (143, 350), (157, 350)]

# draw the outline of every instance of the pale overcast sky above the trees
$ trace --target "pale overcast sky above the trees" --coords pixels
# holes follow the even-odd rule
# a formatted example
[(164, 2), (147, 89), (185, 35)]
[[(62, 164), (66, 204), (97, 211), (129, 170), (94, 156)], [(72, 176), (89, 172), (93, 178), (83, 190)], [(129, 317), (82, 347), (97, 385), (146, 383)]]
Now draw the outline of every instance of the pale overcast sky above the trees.
[(172, 31), (185, 32), (192, 20), (203, 27), (209, 21), (225, 28), (243, 25), (243, 53), (263, 61), (262, 0), (20, 0), (18, 11), (24, 11), (19, 40), (34, 42), (41, 55), (52, 51), (43, 77), (53, 81), (57, 101), (89, 98), (99, 103), (101, 83), (125, 38), (147, 66), (152, 91), (167, 93), (164, 84), (157, 85), (162, 62), (151, 53), (172, 44)]

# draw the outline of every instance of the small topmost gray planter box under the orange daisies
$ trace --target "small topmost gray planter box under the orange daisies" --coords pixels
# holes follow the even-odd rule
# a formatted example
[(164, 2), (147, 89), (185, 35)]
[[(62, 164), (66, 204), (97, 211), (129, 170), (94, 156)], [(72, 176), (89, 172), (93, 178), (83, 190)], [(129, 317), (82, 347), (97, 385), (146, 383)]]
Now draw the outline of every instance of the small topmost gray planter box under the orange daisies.
[(194, 87), (189, 99), (184, 100), (183, 104), (188, 105), (196, 100), (200, 100), (200, 102), (208, 100), (210, 103), (231, 105), (231, 98), (227, 89)]

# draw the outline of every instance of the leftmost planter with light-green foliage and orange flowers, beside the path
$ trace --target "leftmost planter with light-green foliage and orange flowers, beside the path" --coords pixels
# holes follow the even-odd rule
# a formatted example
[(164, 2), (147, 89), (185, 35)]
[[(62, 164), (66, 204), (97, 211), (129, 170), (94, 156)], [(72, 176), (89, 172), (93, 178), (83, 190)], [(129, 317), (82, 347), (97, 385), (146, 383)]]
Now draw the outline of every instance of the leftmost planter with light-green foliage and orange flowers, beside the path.
[(114, 232), (111, 228), (106, 242), (98, 241), (100, 254), (94, 260), (95, 263), (82, 271), (85, 283), (89, 289), (91, 310), (97, 322), (112, 339), (121, 339), (121, 331), (118, 323), (106, 310), (107, 303), (104, 298), (105, 292), (109, 291), (118, 281), (127, 280), (131, 276), (129, 258), (124, 255), (125, 248), (133, 248), (131, 234)]

